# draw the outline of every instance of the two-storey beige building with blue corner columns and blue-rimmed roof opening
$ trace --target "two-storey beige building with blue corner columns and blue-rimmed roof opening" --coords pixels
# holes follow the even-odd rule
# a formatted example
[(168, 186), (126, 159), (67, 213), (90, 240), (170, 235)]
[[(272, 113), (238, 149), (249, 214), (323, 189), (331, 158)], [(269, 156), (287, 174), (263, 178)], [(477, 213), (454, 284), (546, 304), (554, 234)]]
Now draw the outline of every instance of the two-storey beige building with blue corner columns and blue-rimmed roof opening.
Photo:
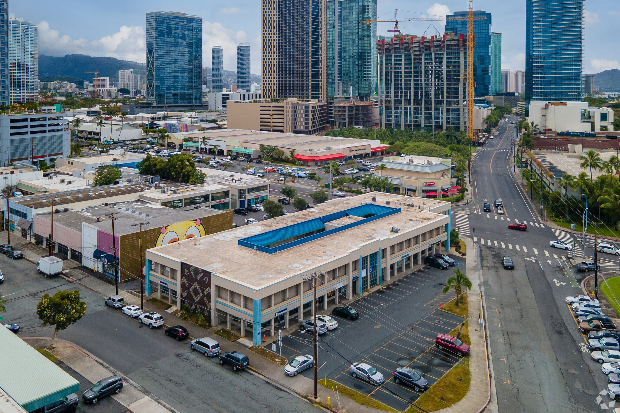
[[(449, 248), (449, 202), (368, 193), (146, 251), (146, 292), (180, 287), (177, 308), (210, 315), (255, 345), (322, 308), (412, 271)], [(163, 298), (163, 297), (162, 297)]]

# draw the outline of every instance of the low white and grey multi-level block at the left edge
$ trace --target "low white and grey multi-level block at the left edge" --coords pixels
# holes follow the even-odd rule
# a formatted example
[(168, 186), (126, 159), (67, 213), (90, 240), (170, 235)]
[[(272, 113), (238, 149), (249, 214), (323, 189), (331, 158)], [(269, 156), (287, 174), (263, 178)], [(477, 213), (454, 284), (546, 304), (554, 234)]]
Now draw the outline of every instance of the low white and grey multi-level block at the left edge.
[(10, 162), (71, 154), (71, 132), (64, 113), (0, 115), (0, 166)]

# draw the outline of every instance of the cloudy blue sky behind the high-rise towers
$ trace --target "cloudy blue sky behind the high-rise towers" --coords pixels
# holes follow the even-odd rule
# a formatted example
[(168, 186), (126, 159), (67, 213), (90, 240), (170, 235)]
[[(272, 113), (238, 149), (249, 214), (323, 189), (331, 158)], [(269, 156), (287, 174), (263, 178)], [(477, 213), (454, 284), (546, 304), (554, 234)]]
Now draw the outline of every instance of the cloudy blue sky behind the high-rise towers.
[[(260, 0), (107, 0), (62, 2), (9, 0), (9, 13), (39, 27), (39, 54), (110, 56), (144, 63), (146, 13), (184, 12), (203, 19), (203, 66), (211, 67), (211, 47), (222, 46), (224, 69), (236, 71), (236, 46), (252, 46), (252, 73), (260, 74)], [(402, 7), (402, 9), (401, 9)], [(466, 0), (377, 0), (378, 20), (444, 16), (466, 10)], [(492, 31), (502, 33), (502, 69), (525, 69), (525, 0), (476, 0), (474, 9), (492, 14)], [(613, 43), (613, 27), (620, 18), (620, 1), (588, 0), (584, 15), (583, 73), (620, 69), (620, 51)], [(431, 24), (434, 26), (431, 26)], [(402, 22), (404, 33), (427, 36), (443, 33), (445, 22)], [(392, 23), (378, 23), (377, 34), (387, 35)]]

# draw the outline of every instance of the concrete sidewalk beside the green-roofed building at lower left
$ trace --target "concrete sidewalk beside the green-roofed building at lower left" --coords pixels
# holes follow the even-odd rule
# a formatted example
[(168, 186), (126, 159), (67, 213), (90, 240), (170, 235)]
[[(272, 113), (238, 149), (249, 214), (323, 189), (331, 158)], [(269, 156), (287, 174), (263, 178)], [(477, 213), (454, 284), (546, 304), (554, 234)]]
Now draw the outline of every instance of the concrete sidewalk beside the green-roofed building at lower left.
[[(35, 349), (45, 349), (50, 345), (50, 338), (48, 337), (27, 337), (24, 341)], [(56, 339), (51, 354), (58, 357), (58, 359), (73, 368), (73, 370), (84, 376), (91, 383), (97, 383), (102, 378), (112, 375), (120, 376), (124, 382), (123, 389), (120, 393), (110, 396), (133, 413), (176, 412), (172, 407), (155, 396), (153, 396), (154, 399), (147, 396), (143, 388), (76, 344)], [(78, 394), (78, 397), (80, 396)]]

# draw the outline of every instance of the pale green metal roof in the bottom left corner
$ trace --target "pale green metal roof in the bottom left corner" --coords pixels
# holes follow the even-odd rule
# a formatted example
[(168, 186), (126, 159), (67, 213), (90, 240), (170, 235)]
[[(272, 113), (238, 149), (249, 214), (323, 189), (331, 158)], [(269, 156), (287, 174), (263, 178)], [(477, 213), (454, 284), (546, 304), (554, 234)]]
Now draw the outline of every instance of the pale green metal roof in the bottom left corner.
[(78, 391), (79, 381), (7, 328), (0, 328), (0, 388), (24, 409), (39, 407)]

